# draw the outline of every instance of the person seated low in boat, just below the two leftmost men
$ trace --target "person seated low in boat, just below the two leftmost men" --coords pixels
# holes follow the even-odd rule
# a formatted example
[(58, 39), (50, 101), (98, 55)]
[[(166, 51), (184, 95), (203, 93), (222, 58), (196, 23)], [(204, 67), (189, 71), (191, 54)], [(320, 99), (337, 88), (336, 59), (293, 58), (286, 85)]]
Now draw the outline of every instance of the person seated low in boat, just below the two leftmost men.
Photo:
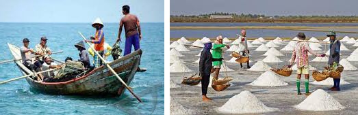
[[(43, 71), (46, 71), (48, 69), (60, 69), (61, 68), (61, 65), (57, 65), (57, 63), (54, 63), (51, 59), (51, 56), (49, 56), (49, 55), (44, 56), (43, 61), (44, 61), (44, 63), (42, 64)], [(43, 82), (47, 82), (48, 80), (53, 78), (53, 76), (55, 76), (55, 72), (48, 71), (48, 72), (43, 73), (43, 76), (44, 76)]]

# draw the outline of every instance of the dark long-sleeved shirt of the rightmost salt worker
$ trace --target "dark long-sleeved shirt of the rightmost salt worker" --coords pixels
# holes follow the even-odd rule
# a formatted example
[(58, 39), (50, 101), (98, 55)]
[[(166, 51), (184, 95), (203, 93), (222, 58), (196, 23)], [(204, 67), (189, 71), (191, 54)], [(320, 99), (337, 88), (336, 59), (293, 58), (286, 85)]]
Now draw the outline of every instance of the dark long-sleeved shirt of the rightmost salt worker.
[(331, 41), (331, 44), (329, 44), (329, 65), (333, 65), (333, 62), (340, 63), (340, 51), (341, 42), (338, 39), (336, 39), (334, 42)]

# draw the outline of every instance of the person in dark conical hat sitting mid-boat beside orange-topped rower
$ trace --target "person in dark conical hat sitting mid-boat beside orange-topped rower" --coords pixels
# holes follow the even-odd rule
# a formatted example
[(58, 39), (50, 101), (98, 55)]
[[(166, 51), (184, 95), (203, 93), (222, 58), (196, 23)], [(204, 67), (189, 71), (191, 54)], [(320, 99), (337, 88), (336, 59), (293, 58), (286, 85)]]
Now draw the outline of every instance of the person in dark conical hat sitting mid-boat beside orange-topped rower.
[(81, 63), (84, 63), (84, 67), (87, 68), (91, 68), (90, 67), (90, 58), (88, 56), (88, 53), (86, 52), (86, 48), (84, 46), (84, 42), (78, 42), (77, 44), (75, 44), (75, 47), (77, 48), (77, 50), (79, 50), (79, 59), (78, 61), (81, 61)]

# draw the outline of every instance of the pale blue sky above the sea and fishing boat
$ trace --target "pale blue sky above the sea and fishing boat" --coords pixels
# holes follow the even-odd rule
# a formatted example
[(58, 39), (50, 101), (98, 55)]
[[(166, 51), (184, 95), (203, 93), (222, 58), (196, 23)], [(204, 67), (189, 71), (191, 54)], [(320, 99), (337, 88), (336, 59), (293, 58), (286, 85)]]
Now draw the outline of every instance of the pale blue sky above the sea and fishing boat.
[(0, 22), (118, 22), (122, 6), (141, 22), (164, 22), (164, 0), (0, 0)]

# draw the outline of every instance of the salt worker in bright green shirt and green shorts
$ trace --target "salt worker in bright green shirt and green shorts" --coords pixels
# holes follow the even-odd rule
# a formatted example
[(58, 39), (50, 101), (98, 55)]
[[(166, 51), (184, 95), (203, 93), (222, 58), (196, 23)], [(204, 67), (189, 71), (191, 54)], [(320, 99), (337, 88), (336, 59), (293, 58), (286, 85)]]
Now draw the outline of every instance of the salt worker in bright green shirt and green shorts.
[(213, 46), (213, 52), (212, 52), (212, 56), (213, 56), (213, 70), (212, 72), (215, 72), (215, 76), (214, 79), (218, 80), (218, 76), (219, 76), (219, 72), (220, 72), (220, 68), (222, 65), (222, 49), (223, 47), (227, 47), (230, 48), (229, 45), (225, 45), (222, 44), (222, 36), (219, 35), (218, 37), (216, 37), (216, 41), (214, 42), (214, 46)]

